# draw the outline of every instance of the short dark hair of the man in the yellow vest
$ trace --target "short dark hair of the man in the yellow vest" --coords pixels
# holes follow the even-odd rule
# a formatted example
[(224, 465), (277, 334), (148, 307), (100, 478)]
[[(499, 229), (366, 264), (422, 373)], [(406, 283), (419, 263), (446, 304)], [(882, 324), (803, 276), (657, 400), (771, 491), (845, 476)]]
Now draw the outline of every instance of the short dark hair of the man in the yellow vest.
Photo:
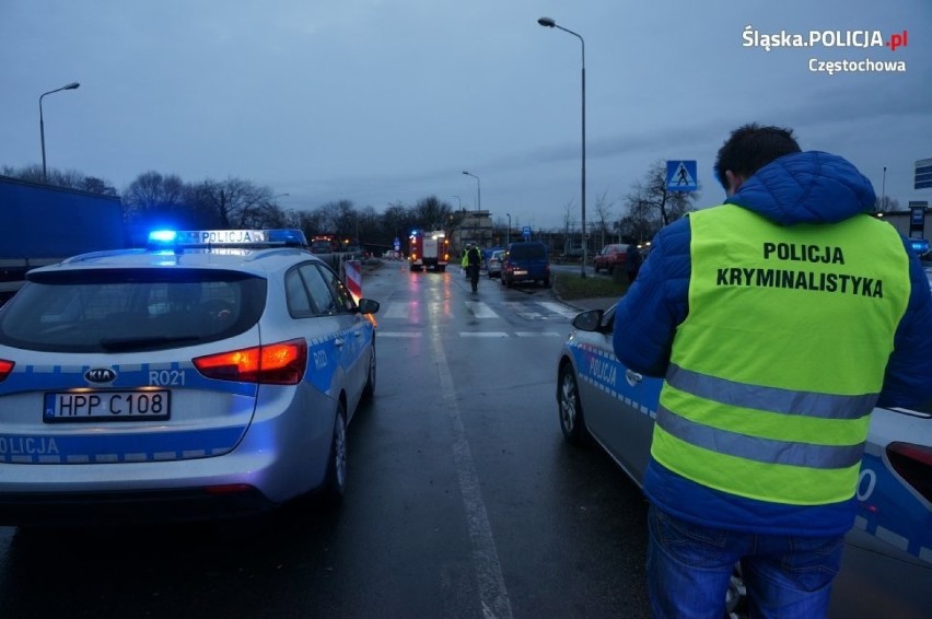
[(797, 152), (802, 150), (793, 138), (792, 129), (761, 127), (757, 122), (750, 122), (732, 131), (719, 149), (719, 156), (715, 159), (715, 176), (727, 191), (726, 170), (731, 170), (737, 176), (749, 178), (774, 159)]

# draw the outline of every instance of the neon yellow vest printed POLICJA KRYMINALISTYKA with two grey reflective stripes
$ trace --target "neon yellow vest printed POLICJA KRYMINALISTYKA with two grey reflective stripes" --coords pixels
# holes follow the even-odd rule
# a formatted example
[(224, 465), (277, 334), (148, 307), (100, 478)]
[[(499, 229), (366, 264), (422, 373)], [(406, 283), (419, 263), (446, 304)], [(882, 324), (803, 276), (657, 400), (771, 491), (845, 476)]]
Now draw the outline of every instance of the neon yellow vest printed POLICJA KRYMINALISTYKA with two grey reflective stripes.
[(691, 213), (690, 230), (653, 457), (752, 499), (850, 499), (909, 299), (898, 233), (867, 215), (782, 227), (735, 206)]

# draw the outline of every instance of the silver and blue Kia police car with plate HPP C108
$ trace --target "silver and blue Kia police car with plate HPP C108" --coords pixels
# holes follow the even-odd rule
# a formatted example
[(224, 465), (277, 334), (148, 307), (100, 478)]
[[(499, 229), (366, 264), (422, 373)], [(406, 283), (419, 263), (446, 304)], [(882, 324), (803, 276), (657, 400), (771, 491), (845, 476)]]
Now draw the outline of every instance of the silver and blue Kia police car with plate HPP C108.
[(300, 231), (162, 231), (0, 310), (0, 524), (237, 516), (347, 482), (378, 303)]

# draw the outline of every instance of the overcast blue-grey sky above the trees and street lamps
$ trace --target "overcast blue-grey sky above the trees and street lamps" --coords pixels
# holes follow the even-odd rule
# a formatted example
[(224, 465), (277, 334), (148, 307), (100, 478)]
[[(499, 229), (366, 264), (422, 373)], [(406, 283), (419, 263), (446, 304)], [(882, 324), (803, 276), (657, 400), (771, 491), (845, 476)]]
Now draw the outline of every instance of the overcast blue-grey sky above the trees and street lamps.
[[(715, 153), (747, 121), (846, 156), (902, 208), (932, 200), (912, 189), (932, 0), (0, 0), (0, 165), (42, 163), (39, 95), (77, 81), (43, 100), (48, 166), (120, 191), (156, 171), (268, 185), (286, 209), (481, 192), (497, 220), (557, 227), (570, 206), (579, 225), (582, 45), (545, 15), (585, 40), (589, 222), (656, 161), (696, 160), (700, 203), (720, 202)], [(767, 51), (746, 26), (908, 38)], [(865, 59), (905, 71), (811, 70)]]

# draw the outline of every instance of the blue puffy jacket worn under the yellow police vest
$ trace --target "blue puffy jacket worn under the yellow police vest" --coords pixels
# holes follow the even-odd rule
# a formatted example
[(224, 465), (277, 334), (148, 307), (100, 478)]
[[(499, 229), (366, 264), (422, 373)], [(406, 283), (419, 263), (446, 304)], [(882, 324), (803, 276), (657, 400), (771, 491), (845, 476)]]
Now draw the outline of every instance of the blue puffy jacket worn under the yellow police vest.
[[(871, 212), (876, 196), (870, 180), (844, 159), (811, 151), (782, 156), (748, 178), (726, 200), (780, 225), (834, 223)], [(689, 313), (689, 218), (664, 227), (654, 238), (638, 279), (618, 302), (614, 348), (631, 370), (664, 376), (677, 326)], [(904, 237), (904, 252), (912, 254)], [(911, 256), (912, 292), (894, 340), (878, 406), (916, 407), (932, 396), (932, 295), (919, 260)], [(761, 325), (767, 328), (767, 325)], [(753, 343), (749, 343), (753, 346)], [(853, 522), (854, 500), (797, 518), (791, 510), (737, 501), (676, 476), (651, 460), (644, 480), (648, 497), (680, 517), (679, 502), (703, 502), (721, 519), (699, 524), (756, 533), (840, 535)], [(772, 526), (776, 525), (776, 526)]]

